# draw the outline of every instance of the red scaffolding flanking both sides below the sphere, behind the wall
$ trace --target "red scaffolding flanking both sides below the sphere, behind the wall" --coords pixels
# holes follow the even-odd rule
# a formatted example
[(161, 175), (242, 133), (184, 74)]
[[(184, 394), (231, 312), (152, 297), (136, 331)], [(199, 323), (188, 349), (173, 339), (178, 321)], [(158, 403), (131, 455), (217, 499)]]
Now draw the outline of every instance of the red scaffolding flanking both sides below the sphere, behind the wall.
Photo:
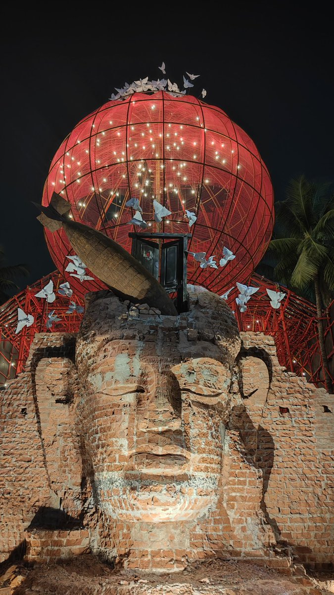
[[(49, 280), (53, 281), (56, 293), (56, 300), (51, 304), (46, 302), (46, 299), (36, 297), (36, 293), (45, 287)], [(82, 314), (77, 312), (68, 314), (68, 306), (71, 301), (82, 306), (83, 301), (81, 296), (78, 297), (74, 294), (71, 297), (61, 296), (58, 293), (61, 283), (64, 283), (64, 278), (58, 271), (54, 271), (1, 306), (0, 385), (4, 385), (9, 378), (13, 378), (15, 374), (23, 370), (35, 333), (76, 333), (78, 331)], [(228, 300), (229, 306), (235, 311), (240, 330), (262, 332), (273, 336), (280, 364), (295, 374), (303, 375), (316, 386), (323, 386), (316, 306), (286, 287), (278, 286), (273, 281), (256, 274), (251, 276), (248, 284), (259, 287), (259, 290), (247, 302), (247, 311), (243, 313), (239, 311), (235, 303), (237, 293), (233, 295), (231, 292), (231, 297)], [(279, 309), (270, 306), (270, 298), (266, 289), (286, 293)], [(15, 334), (17, 308), (23, 309), (26, 314), (32, 314), (34, 322), (30, 327), (24, 327), (20, 333)], [(55, 310), (55, 314), (61, 320), (53, 324), (51, 330), (48, 330), (46, 323), (52, 310)], [(334, 320), (330, 315), (331, 311), (334, 311), (334, 300), (323, 313), (326, 351), (333, 378)]]

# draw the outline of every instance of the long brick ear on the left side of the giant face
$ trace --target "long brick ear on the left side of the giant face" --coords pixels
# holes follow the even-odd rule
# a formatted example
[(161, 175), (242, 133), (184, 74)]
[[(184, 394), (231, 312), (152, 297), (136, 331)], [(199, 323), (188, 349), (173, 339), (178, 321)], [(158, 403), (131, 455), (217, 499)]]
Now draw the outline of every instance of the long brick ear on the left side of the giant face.
[(80, 508), (82, 462), (75, 430), (77, 370), (69, 358), (42, 358), (35, 372), (37, 415), (51, 489), (67, 512)]

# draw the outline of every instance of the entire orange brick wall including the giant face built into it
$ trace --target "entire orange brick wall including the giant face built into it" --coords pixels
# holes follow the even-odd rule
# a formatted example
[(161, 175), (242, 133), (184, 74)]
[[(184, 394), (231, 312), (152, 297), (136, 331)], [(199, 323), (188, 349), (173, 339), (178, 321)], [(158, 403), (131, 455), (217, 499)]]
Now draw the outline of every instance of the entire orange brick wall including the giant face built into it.
[[(73, 532), (88, 530), (93, 552), (128, 568), (175, 571), (215, 555), (286, 568), (275, 536), (309, 565), (329, 565), (333, 397), (280, 367), (271, 337), (242, 333), (241, 345), (216, 296), (203, 293), (180, 317), (133, 313), (114, 296), (93, 298), (79, 377), (74, 337), (40, 334), (26, 371), (0, 392), (0, 560), (25, 537), (29, 556), (40, 556), (35, 546), (46, 558), (83, 553), (87, 534)], [(108, 399), (101, 378), (120, 387)], [(129, 378), (146, 391), (123, 394)], [(172, 378), (181, 388), (195, 378), (190, 393), (204, 392), (181, 398)], [(216, 381), (226, 390), (212, 406)], [(168, 481), (152, 474), (153, 443), (160, 453), (185, 445), (187, 474), (169, 469), (178, 456), (167, 459)], [(147, 452), (144, 481), (131, 462), (136, 445)]]

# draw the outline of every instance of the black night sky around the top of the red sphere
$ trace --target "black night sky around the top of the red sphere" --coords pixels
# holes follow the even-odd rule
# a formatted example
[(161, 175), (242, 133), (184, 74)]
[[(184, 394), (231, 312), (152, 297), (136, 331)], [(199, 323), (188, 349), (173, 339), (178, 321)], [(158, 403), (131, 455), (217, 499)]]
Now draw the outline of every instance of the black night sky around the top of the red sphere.
[[(218, 105), (256, 143), (276, 200), (293, 176), (334, 181), (332, 21), (325, 6), (201, 2), (44, 4), (2, 17), (0, 245), (26, 262), (26, 283), (54, 270), (37, 211), (56, 149), (114, 86), (139, 77), (200, 73), (197, 96)], [(181, 6), (181, 5), (180, 5)], [(69, 10), (72, 10), (70, 15)], [(163, 14), (164, 13), (164, 14)], [(196, 94), (196, 93), (194, 93)]]

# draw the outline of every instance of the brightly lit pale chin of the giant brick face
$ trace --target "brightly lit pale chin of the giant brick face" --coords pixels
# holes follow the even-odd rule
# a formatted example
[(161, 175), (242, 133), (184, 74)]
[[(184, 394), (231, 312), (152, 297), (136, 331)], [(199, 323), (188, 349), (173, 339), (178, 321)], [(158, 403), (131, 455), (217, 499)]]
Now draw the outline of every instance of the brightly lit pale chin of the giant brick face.
[[(156, 476), (155, 476), (156, 477)], [(219, 475), (196, 474), (182, 479), (124, 477), (113, 472), (94, 476), (100, 509), (113, 519), (128, 522), (171, 522), (196, 519), (214, 506)]]

